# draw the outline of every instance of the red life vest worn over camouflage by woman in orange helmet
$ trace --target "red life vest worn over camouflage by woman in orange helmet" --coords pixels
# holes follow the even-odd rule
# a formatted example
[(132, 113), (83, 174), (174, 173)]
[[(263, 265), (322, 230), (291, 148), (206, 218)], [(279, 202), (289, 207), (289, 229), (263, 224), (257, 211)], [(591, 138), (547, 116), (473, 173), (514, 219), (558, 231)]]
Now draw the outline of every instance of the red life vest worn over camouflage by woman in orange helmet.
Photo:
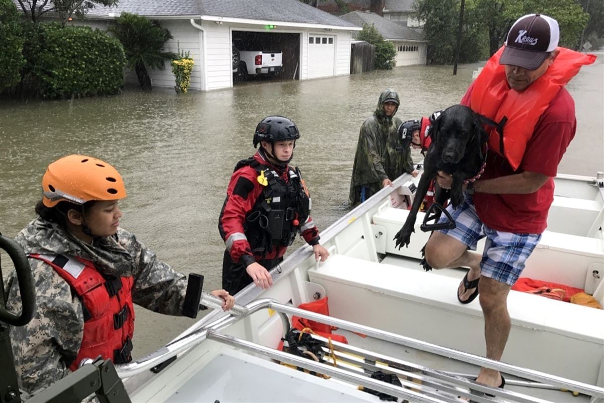
[(69, 369), (74, 371), (85, 358), (94, 360), (99, 355), (105, 360), (111, 358), (115, 364), (131, 361), (134, 332), (132, 276), (106, 279), (91, 261), (77, 257), (37, 254), (29, 257), (51, 265), (82, 301), (82, 344)]

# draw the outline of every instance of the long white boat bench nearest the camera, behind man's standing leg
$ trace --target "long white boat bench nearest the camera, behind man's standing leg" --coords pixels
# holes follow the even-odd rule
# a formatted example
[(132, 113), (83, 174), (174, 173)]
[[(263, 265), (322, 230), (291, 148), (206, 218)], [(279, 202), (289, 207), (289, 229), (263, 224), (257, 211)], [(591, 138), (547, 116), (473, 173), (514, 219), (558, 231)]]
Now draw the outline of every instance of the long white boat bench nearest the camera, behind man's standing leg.
[[(484, 355), (478, 298), (467, 305), (457, 300), (462, 274), (451, 278), (332, 253), (309, 270), (309, 279), (325, 288), (334, 317)], [(507, 305), (512, 331), (503, 361), (596, 384), (603, 310), (518, 291), (510, 291)]]

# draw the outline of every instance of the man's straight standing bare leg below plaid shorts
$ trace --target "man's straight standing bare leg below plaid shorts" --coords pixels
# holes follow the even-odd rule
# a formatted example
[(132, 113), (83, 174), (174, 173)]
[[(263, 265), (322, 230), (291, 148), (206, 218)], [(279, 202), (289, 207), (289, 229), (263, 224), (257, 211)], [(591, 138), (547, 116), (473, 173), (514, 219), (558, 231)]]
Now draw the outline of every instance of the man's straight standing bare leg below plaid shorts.
[[(480, 279), (480, 306), (484, 314), (484, 340), (486, 355), (491, 360), (500, 361), (510, 335), (510, 315), (507, 312), (507, 294), (510, 286), (482, 276)], [(498, 370), (481, 368), (477, 382), (498, 387), (501, 377)]]

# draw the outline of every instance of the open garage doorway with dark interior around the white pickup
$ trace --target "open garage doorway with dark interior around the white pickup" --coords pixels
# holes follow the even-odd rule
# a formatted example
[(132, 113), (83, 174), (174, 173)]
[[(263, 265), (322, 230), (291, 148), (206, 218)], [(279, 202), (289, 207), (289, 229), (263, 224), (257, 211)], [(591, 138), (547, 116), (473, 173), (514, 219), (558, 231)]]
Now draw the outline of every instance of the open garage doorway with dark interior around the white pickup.
[[(280, 32), (259, 32), (259, 31), (233, 31), (232, 41), (233, 50), (239, 51), (242, 68), (240, 71), (251, 72), (252, 75), (234, 73), (234, 83), (245, 81), (250, 78), (274, 78), (279, 77), (284, 80), (300, 79), (300, 33), (280, 33)], [(270, 68), (262, 69), (261, 74), (253, 75), (255, 69), (245, 65), (246, 60), (250, 62), (246, 52), (263, 52), (265, 54), (281, 54), (282, 67), (280, 71), (272, 71)], [(234, 56), (236, 57), (236, 56)], [(272, 58), (271, 58), (272, 60)], [(236, 63), (236, 62), (234, 62)], [(246, 69), (243, 68), (245, 65)], [(236, 66), (233, 66), (236, 68)], [(265, 71), (266, 70), (266, 71)]]

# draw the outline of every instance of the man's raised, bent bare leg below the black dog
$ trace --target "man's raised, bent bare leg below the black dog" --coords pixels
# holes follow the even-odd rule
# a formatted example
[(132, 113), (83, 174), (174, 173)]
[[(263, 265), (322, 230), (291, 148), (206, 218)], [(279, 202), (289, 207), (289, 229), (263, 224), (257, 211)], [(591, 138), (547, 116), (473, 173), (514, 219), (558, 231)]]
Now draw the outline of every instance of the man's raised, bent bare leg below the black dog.
[[(426, 244), (426, 261), (432, 268), (469, 267), (468, 281), (480, 277), (481, 260), (481, 255), (469, 252), (463, 243), (440, 232), (432, 233)], [(466, 300), (474, 293), (474, 290), (475, 288), (468, 288), (464, 291), (462, 282), (457, 293), (461, 300)]]

